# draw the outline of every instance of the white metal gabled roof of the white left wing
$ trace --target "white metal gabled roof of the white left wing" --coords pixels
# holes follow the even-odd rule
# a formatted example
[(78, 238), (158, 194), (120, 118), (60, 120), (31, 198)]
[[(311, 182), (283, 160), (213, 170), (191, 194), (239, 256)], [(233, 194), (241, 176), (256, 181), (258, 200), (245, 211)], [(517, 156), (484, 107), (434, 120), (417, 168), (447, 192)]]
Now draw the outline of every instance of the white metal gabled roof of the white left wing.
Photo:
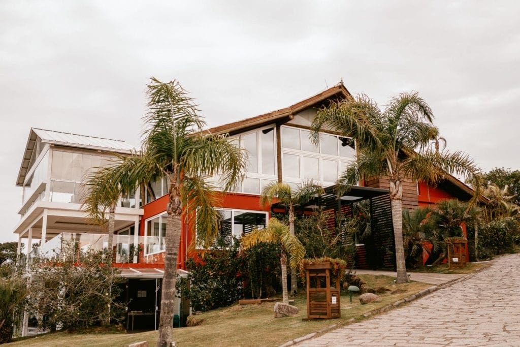
[(80, 134), (72, 134), (61, 131), (45, 130), (40, 128), (31, 128), (25, 152), (23, 155), (20, 171), (16, 181), (17, 186), (22, 186), (25, 175), (29, 170), (33, 151), (36, 147), (37, 139), (40, 138), (42, 144), (60, 145), (74, 148), (84, 148), (100, 151), (111, 151), (129, 154), (135, 151), (135, 146), (124, 142), (123, 140), (115, 140), (110, 138), (86, 136)]

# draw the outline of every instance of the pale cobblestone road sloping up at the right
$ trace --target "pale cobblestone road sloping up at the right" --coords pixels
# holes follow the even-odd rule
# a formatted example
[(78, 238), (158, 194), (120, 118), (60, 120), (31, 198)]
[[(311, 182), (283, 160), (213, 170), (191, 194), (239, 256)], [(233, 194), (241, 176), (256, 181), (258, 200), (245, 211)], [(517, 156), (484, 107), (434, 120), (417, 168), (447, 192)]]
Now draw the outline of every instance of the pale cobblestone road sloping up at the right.
[(520, 254), (389, 313), (300, 346), (520, 346)]

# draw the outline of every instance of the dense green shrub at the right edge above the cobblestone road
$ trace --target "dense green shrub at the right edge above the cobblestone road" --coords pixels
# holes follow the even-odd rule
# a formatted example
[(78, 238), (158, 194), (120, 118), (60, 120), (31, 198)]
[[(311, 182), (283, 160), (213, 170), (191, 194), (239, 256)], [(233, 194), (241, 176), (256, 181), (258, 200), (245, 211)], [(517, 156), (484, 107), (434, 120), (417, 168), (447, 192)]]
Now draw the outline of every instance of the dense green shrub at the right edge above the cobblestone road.
[(478, 256), (492, 258), (493, 255), (512, 252), (520, 241), (518, 222), (502, 218), (484, 224), (478, 229)]

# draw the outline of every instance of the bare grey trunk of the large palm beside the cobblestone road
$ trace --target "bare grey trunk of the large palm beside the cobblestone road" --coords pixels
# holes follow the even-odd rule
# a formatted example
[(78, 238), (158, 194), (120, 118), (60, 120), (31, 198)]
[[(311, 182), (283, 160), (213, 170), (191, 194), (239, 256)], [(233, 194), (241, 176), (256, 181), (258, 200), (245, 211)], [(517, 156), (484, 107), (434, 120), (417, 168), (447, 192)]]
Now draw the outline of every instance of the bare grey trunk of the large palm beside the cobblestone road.
[(392, 219), (394, 222), (395, 260), (397, 283), (408, 282), (406, 274), (405, 248), (402, 240), (402, 186), (401, 181), (390, 182), (390, 199), (392, 201)]

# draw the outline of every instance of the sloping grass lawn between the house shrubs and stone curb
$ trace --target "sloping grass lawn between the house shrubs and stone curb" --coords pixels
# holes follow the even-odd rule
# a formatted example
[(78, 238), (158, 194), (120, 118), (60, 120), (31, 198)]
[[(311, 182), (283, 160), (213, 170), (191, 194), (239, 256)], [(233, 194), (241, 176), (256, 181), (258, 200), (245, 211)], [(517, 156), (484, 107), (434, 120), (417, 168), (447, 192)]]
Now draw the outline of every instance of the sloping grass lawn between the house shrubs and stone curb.
[[(348, 324), (351, 318), (361, 320), (366, 312), (393, 303), (431, 285), (421, 282), (394, 284), (394, 278), (378, 275), (360, 275), (371, 287), (384, 286), (391, 291), (406, 290), (392, 294), (382, 294), (382, 301), (361, 305), (358, 296), (349, 303), (348, 295), (341, 297), (341, 318), (306, 320), (305, 290), (295, 300), (300, 309), (297, 317), (274, 318), (274, 303), (262, 305), (233, 305), (197, 315), (203, 319), (196, 327), (174, 329), (174, 340), (178, 346), (277, 346), (297, 337), (318, 331), (332, 324)], [(148, 341), (155, 345), (156, 331), (139, 333), (67, 333), (55, 332), (10, 343), (20, 346), (125, 346), (138, 341)]]

